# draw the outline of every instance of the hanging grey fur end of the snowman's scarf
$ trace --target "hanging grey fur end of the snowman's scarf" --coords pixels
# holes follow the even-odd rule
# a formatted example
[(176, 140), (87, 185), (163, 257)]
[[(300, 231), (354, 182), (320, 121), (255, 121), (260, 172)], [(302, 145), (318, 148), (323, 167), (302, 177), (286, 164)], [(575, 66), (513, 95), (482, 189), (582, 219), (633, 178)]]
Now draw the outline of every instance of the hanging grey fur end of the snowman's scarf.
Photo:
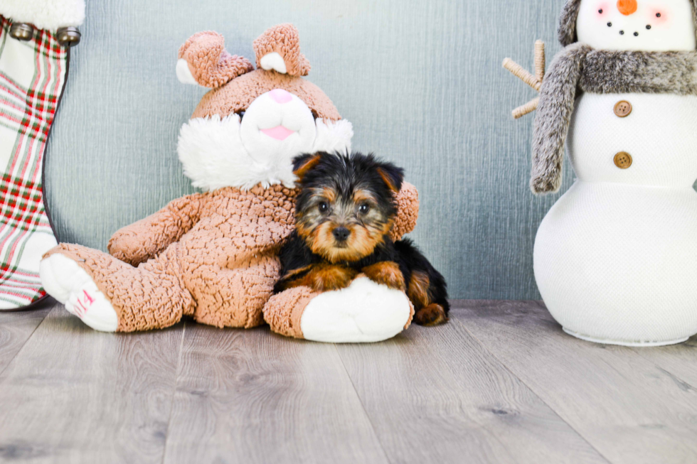
[(564, 145), (573, 113), (576, 89), (588, 45), (569, 45), (555, 57), (540, 90), (533, 134), (533, 193), (552, 193), (561, 186)]

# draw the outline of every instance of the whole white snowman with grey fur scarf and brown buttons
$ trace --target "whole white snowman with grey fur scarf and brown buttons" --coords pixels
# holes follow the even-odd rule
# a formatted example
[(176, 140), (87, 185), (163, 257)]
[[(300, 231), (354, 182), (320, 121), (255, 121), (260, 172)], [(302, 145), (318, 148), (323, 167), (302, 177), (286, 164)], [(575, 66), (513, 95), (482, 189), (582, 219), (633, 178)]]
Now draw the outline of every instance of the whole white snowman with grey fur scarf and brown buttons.
[(575, 337), (697, 333), (697, 0), (569, 0), (540, 89), (531, 188), (577, 180), (537, 234), (538, 288)]

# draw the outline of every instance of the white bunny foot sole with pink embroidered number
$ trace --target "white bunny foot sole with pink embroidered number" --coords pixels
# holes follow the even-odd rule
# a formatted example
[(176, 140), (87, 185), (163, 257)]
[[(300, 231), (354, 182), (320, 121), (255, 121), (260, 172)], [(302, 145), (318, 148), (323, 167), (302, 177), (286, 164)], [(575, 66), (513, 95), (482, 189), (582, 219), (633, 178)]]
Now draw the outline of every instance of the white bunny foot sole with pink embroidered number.
[(41, 261), (39, 275), (46, 293), (70, 313), (95, 330), (116, 332), (119, 319), (114, 307), (78, 263), (55, 253)]

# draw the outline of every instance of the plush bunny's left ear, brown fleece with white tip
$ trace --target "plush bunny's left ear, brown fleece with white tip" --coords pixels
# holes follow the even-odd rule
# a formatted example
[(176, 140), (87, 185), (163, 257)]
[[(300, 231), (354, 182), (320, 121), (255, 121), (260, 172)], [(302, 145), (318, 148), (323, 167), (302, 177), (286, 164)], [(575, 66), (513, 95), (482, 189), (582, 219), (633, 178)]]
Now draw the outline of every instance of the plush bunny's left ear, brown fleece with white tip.
[(250, 60), (230, 55), (225, 39), (217, 32), (199, 32), (179, 48), (176, 77), (184, 84), (203, 85), (215, 89), (235, 77), (254, 70)]

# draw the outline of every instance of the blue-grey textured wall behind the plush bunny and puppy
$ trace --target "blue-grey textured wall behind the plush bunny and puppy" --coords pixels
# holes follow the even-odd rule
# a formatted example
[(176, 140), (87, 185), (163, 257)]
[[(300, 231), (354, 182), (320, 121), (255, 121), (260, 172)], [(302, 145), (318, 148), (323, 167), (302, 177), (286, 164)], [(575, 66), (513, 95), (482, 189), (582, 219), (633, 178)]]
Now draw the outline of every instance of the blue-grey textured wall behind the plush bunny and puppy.
[[(535, 233), (557, 196), (528, 190), (534, 92), (501, 68), (531, 69), (533, 43), (559, 50), (563, 0), (87, 0), (83, 42), (48, 146), (58, 236), (105, 249), (119, 227), (193, 189), (179, 127), (205, 90), (181, 85), (179, 45), (213, 29), (253, 61), (252, 41), (292, 22), (309, 80), (353, 123), (353, 146), (403, 166), (420, 190), (413, 239), (454, 298), (539, 298)], [(572, 179), (566, 167), (565, 188)]]

